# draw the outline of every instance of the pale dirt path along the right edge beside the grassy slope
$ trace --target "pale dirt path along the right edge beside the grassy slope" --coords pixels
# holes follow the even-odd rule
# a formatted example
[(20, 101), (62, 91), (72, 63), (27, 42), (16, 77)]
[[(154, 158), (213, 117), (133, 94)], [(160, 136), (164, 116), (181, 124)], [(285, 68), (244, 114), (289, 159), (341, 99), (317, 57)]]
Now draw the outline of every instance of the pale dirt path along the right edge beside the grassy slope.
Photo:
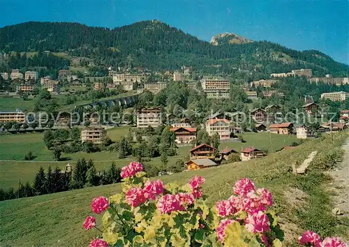
[(332, 189), (336, 193), (334, 209), (340, 210), (339, 216), (349, 217), (349, 138), (342, 148), (345, 150), (343, 162), (329, 174), (334, 179), (332, 183)]

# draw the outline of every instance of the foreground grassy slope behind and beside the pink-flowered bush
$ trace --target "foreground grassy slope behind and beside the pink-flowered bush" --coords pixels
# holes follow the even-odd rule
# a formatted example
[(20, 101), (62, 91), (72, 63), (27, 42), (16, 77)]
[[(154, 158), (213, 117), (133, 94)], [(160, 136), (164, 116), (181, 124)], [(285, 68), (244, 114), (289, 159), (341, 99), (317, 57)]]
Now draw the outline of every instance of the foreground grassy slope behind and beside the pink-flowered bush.
[[(327, 140), (314, 140), (301, 146), (271, 154), (265, 158), (251, 160), (244, 163), (233, 163), (221, 165), (220, 167), (208, 168), (206, 170), (181, 172), (161, 177), (165, 182), (177, 181), (184, 184), (190, 177), (200, 174), (205, 177), (207, 183), (204, 186), (205, 194), (209, 195), (209, 203), (212, 205), (216, 200), (229, 197), (231, 185), (237, 179), (249, 177), (255, 181), (257, 186), (263, 186), (272, 191), (274, 195), (274, 210), (283, 218), (285, 223), (295, 223), (301, 227), (290, 232), (288, 244), (295, 241), (295, 236), (302, 232), (301, 228), (311, 228), (322, 232), (322, 234), (339, 234), (348, 237), (348, 227), (338, 227), (336, 220), (331, 214), (331, 203), (328, 194), (319, 182), (314, 171), (306, 175), (295, 176), (292, 174), (292, 163), (301, 163), (311, 151), (318, 150), (322, 153), (338, 148), (346, 134), (335, 135), (333, 144)], [(315, 160), (318, 158), (315, 158)], [(310, 168), (314, 167), (311, 165)], [(315, 181), (315, 180), (318, 181)], [(304, 202), (302, 208), (297, 208), (285, 197), (285, 191), (290, 188), (303, 189), (304, 192), (317, 191), (309, 195), (309, 200)], [(308, 188), (308, 189), (306, 189)], [(90, 214), (89, 203), (96, 195), (112, 195), (120, 190), (119, 184), (85, 188), (82, 190), (68, 191), (53, 195), (23, 198), (0, 202), (0, 246), (84, 246), (97, 232), (82, 230), (84, 217)], [(292, 199), (292, 198), (291, 198)], [(313, 204), (320, 200), (321, 207)], [(299, 214), (302, 212), (302, 214)], [(312, 219), (316, 224), (307, 225)], [(99, 220), (99, 218), (98, 218)]]

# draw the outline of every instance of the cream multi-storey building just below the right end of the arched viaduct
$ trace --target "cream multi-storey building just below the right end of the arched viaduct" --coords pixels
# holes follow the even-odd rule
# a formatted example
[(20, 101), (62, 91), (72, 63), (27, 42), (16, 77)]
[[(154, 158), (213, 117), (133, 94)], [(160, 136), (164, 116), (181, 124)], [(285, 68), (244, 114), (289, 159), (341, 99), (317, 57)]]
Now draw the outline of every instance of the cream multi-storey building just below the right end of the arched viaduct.
[(137, 127), (147, 128), (151, 126), (156, 128), (161, 125), (161, 109), (160, 107), (154, 108), (141, 108), (137, 113)]

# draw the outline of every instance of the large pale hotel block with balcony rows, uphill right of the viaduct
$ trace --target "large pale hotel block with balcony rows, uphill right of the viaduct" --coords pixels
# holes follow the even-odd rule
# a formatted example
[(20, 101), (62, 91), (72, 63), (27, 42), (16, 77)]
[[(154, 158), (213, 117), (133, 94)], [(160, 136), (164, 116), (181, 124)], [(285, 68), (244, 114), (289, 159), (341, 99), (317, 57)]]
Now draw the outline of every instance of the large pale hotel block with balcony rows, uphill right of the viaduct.
[(207, 98), (229, 98), (229, 80), (203, 80), (201, 87), (207, 93)]

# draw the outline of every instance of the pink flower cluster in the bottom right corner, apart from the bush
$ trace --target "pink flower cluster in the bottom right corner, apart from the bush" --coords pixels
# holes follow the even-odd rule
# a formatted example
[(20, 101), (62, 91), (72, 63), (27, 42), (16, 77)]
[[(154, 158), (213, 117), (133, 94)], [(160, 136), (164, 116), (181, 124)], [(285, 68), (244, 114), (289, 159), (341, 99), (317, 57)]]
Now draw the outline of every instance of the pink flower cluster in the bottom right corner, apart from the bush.
[(301, 246), (311, 247), (348, 247), (339, 237), (327, 237), (321, 241), (320, 236), (315, 232), (307, 230), (299, 237), (299, 244)]

